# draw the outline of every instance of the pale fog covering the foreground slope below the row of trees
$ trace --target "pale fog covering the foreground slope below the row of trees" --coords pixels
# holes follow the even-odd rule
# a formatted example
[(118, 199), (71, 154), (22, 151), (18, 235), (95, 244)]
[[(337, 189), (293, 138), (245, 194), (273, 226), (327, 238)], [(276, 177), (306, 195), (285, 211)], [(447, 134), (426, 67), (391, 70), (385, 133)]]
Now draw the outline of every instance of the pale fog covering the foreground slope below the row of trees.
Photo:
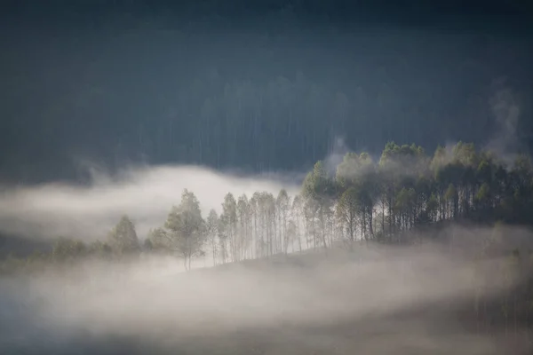
[[(0, 352), (509, 353), (503, 327), (487, 335), (461, 319), (473, 305), (473, 264), (436, 247), (360, 246), (188, 273), (174, 272), (179, 264), (85, 263), (6, 278)], [(489, 294), (504, 290), (494, 282)]]

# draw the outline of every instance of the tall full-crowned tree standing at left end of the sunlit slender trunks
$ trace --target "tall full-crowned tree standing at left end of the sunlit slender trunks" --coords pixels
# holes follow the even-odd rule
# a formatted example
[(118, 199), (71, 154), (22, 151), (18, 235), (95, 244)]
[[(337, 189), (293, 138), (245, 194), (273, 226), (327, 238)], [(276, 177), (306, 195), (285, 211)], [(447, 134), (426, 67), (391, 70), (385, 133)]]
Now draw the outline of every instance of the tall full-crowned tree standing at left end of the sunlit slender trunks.
[(164, 224), (167, 245), (183, 257), (185, 270), (190, 270), (191, 260), (203, 256), (207, 229), (203, 221), (200, 202), (195, 193), (187, 189), (181, 193), (179, 206), (173, 206)]

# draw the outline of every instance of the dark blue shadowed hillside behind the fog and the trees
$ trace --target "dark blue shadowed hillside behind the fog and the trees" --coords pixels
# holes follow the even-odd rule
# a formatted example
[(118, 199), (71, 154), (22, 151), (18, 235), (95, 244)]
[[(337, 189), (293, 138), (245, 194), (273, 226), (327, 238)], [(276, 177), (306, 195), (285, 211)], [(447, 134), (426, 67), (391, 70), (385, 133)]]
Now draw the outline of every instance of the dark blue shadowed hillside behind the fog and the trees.
[(84, 182), (85, 161), (301, 170), (337, 138), (485, 145), (501, 97), (513, 149), (532, 145), (526, 1), (177, 3), (4, 3), (2, 181)]

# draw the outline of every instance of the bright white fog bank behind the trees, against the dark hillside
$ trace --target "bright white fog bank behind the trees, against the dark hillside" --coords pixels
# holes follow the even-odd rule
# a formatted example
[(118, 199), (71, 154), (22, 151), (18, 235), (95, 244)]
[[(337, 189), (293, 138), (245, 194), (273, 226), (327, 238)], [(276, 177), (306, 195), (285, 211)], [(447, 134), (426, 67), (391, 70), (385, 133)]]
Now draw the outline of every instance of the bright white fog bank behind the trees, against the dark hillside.
[(0, 194), (0, 232), (94, 239), (105, 236), (127, 214), (144, 238), (150, 228), (163, 224), (184, 188), (196, 194), (205, 216), (209, 209), (221, 209), (226, 193), (277, 194), (281, 188), (295, 193), (298, 188), (282, 175), (224, 174), (198, 166), (130, 167), (114, 176), (92, 166), (90, 173), (89, 186), (5, 186)]

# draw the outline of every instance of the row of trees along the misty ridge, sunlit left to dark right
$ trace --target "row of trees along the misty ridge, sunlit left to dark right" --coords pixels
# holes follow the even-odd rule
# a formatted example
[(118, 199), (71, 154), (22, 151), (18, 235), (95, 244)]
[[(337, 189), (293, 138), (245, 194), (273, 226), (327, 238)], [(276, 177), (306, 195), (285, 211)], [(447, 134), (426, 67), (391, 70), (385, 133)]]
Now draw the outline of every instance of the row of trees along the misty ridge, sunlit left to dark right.
[(203, 216), (195, 193), (186, 189), (165, 224), (142, 242), (124, 216), (106, 241), (61, 238), (52, 253), (9, 257), (3, 270), (35, 260), (141, 252), (179, 256), (188, 269), (197, 256), (223, 264), (309, 248), (353, 248), (355, 241), (406, 243), (406, 232), (442, 221), (530, 225), (532, 213), (533, 165), (527, 155), (505, 162), (462, 142), (433, 155), (420, 146), (388, 143), (378, 161), (366, 153), (346, 154), (334, 176), (316, 162), (296, 196), (285, 190), (227, 193), (219, 213), (212, 209)]

